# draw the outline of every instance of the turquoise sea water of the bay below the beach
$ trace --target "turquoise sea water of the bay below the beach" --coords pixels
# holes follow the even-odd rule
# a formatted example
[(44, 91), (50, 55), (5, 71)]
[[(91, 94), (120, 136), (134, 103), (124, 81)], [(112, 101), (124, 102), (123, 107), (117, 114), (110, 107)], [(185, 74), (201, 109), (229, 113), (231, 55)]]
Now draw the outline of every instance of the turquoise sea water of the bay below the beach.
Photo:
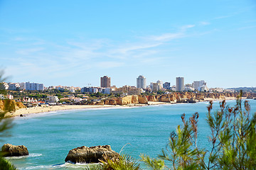
[[(235, 101), (227, 101), (234, 106)], [(250, 100), (256, 112), (256, 100)], [(65, 163), (70, 149), (111, 145), (116, 152), (139, 159), (139, 154), (156, 157), (166, 147), (169, 135), (181, 125), (181, 114), (188, 118), (199, 113), (199, 145), (207, 147), (207, 102), (136, 108), (87, 109), (58, 111), (14, 118), (12, 137), (4, 143), (25, 145), (30, 156), (9, 160), (18, 169), (82, 169), (85, 165)], [(218, 101), (213, 109), (218, 109)], [(128, 145), (127, 145), (128, 144)]]

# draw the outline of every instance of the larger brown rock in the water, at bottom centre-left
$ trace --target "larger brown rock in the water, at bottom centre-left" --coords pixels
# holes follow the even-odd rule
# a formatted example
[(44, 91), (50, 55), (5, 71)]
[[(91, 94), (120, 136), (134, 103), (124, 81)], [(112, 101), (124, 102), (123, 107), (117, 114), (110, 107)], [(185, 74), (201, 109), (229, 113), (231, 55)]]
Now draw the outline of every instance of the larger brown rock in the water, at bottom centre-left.
[(77, 147), (68, 152), (65, 162), (73, 163), (98, 163), (107, 159), (118, 159), (119, 154), (114, 152), (110, 145), (97, 147)]

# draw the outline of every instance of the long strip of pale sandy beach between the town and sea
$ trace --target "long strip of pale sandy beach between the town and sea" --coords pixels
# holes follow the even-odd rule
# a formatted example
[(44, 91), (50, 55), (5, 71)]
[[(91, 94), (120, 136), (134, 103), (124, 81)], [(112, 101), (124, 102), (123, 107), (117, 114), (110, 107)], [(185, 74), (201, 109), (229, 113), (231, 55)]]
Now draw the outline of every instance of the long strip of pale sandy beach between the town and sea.
[[(245, 98), (242, 98), (245, 99)], [(223, 98), (205, 98), (205, 100), (198, 102), (208, 102), (208, 101), (223, 101)], [(225, 100), (236, 100), (236, 98), (230, 97), (225, 98)], [(63, 106), (48, 106), (48, 107), (32, 107), (32, 108), (20, 108), (15, 112), (6, 113), (7, 118), (14, 118), (20, 115), (26, 116), (37, 113), (51, 113), (53, 111), (66, 111), (66, 110), (78, 110), (78, 109), (93, 109), (93, 108), (130, 108), (139, 106), (154, 106), (154, 105), (169, 105), (177, 103), (167, 103), (159, 101), (149, 101), (149, 104), (130, 104), (130, 105), (63, 105)]]

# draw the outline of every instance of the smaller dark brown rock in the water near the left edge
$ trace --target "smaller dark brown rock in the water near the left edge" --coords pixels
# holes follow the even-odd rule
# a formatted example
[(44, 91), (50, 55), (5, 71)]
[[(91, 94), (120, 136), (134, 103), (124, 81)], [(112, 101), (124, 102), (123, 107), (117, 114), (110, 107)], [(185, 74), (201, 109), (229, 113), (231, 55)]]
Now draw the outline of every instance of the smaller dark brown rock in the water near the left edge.
[(28, 148), (26, 148), (24, 145), (11, 145), (11, 144), (5, 144), (1, 152), (4, 157), (20, 157), (28, 155)]

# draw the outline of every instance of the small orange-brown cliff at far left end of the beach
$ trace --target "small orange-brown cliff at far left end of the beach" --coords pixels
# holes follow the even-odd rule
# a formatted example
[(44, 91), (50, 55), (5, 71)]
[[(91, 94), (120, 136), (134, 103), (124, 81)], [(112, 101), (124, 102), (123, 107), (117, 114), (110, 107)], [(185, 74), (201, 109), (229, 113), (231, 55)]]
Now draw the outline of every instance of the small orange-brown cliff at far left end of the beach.
[(20, 108), (26, 108), (21, 102), (16, 102), (14, 100), (0, 100), (0, 111), (16, 111)]

